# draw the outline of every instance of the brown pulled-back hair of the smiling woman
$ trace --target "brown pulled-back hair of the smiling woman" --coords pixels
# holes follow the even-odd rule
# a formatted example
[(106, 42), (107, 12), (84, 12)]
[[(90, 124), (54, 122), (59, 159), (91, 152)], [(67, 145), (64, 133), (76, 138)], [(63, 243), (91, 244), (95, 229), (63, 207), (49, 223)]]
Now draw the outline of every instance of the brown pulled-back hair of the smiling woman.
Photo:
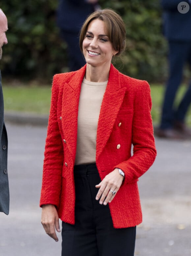
[(105, 23), (106, 33), (109, 37), (110, 42), (115, 51), (118, 51), (116, 55), (120, 55), (125, 50), (125, 39), (126, 30), (123, 19), (120, 15), (111, 9), (103, 9), (95, 11), (90, 14), (85, 20), (81, 30), (80, 30), (80, 50), (83, 52), (83, 40), (86, 36), (86, 32), (90, 22), (94, 19), (100, 19)]

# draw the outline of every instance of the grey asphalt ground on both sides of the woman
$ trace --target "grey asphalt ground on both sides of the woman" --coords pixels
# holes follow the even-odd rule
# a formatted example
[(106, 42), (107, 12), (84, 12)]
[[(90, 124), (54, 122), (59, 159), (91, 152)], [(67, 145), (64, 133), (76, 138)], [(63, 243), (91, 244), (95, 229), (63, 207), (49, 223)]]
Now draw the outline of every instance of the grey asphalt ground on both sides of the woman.
[[(41, 226), (45, 126), (6, 124), (10, 214), (0, 213), (0, 256), (60, 256)], [(191, 141), (156, 139), (158, 155), (138, 185), (143, 223), (135, 255), (191, 255)], [(120, 248), (119, 248), (120, 250)], [(108, 255), (109, 256), (109, 255)]]

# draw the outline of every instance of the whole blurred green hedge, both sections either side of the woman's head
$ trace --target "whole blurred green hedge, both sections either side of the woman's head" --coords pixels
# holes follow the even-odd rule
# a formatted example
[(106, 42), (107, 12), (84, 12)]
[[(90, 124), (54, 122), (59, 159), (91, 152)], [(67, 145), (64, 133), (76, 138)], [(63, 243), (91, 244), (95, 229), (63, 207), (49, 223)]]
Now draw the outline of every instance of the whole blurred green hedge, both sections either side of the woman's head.
[[(166, 41), (162, 36), (159, 1), (100, 0), (116, 10), (126, 24), (127, 51), (115, 65), (124, 74), (151, 81), (166, 76)], [(67, 45), (55, 22), (55, 0), (3, 0), (8, 18), (8, 45), (3, 47), (1, 71), (8, 76), (49, 80), (68, 71)]]

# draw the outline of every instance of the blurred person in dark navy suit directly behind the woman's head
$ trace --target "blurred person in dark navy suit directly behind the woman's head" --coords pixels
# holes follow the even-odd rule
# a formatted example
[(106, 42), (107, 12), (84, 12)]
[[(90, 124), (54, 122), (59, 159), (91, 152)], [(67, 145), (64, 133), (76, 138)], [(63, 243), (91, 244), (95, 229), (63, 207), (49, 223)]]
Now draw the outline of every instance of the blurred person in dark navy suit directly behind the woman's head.
[(79, 31), (89, 14), (95, 11), (98, 0), (60, 0), (57, 10), (57, 24), (62, 39), (68, 45), (70, 71), (85, 65), (79, 48)]

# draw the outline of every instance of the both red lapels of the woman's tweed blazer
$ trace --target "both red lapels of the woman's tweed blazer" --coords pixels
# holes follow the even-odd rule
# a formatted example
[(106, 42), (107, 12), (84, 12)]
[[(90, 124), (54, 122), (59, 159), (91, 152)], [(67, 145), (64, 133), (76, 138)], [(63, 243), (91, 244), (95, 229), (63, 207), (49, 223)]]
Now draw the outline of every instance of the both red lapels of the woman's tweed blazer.
[[(64, 138), (68, 143), (68, 149), (73, 161), (75, 161), (77, 143), (77, 119), (81, 84), (86, 72), (86, 65), (74, 72), (68, 83), (63, 84), (62, 94), (62, 128)], [(119, 71), (111, 65), (108, 84), (103, 96), (101, 110), (97, 126), (96, 160), (106, 145), (117, 114), (120, 110), (126, 88), (121, 88)]]

